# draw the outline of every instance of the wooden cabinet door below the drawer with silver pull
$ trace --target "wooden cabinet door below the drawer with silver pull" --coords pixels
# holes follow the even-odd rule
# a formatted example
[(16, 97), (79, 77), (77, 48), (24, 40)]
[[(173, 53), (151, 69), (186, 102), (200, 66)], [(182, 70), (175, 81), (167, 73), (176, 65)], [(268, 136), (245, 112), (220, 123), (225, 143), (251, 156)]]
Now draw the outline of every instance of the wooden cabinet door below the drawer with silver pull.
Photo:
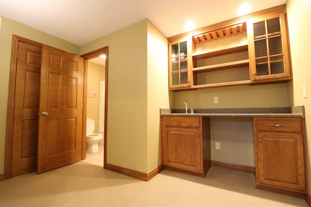
[(257, 184), (305, 192), (303, 136), (273, 132), (258, 132), (257, 135)]

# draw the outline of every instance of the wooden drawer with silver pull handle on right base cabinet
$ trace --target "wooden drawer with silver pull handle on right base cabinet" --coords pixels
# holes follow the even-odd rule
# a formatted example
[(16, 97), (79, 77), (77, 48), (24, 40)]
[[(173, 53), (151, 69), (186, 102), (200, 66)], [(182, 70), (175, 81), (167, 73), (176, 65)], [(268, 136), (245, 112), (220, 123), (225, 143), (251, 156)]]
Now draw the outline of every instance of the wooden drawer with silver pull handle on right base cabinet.
[(302, 120), (300, 118), (254, 118), (258, 131), (285, 131), (302, 132)]

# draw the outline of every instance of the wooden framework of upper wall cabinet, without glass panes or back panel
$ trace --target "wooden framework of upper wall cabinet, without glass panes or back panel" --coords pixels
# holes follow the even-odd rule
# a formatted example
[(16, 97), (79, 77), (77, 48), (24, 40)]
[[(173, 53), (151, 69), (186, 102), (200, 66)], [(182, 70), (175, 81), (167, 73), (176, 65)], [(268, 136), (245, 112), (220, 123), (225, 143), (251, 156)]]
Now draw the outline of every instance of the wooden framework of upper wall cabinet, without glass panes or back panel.
[[(200, 28), (195, 31), (182, 33), (168, 38), (169, 42), (169, 89), (173, 91), (184, 91), (184, 90), (196, 90), (199, 88), (210, 88), (210, 87), (221, 87), (221, 86), (232, 86), (232, 85), (257, 85), (257, 84), (268, 84), (268, 83), (279, 83), (292, 80), (292, 70), (290, 63), (290, 48), (289, 48), (289, 38), (288, 30), (286, 23), (286, 11), (285, 4), (276, 6), (270, 9), (262, 10), (255, 12), (249, 15), (233, 18), (227, 21), (223, 21), (217, 24), (213, 24), (207, 27)], [(251, 38), (252, 32), (252, 23), (259, 21), (261, 19), (271, 18), (272, 16), (280, 16), (281, 19), (281, 32), (282, 32), (282, 44), (283, 44), (283, 53), (284, 53), (284, 73), (282, 74), (273, 74), (270, 76), (254, 76), (254, 71), (256, 70), (255, 63), (255, 48), (254, 41)], [(228, 46), (221, 46), (218, 49), (205, 52), (197, 52), (196, 44), (204, 43), (207, 41), (216, 41), (216, 39), (228, 38), (228, 36), (243, 33), (247, 31), (248, 43), (241, 44), (232, 44)], [(191, 40), (190, 40), (191, 39)], [(188, 84), (172, 85), (172, 67), (171, 67), (171, 46), (176, 42), (188, 41)], [(218, 41), (218, 40), (217, 40)], [(191, 45), (190, 45), (191, 43)], [(248, 51), (248, 58), (238, 61), (229, 61), (220, 64), (212, 64), (206, 66), (196, 65), (196, 60), (204, 59), (211, 56), (221, 56), (228, 55), (238, 51)], [(190, 64), (190, 65), (189, 65)], [(241, 79), (239, 79), (239, 72), (234, 70), (240, 68), (247, 68), (246, 78), (245, 73), (242, 72)], [(207, 83), (197, 83), (197, 75), (203, 73), (209, 73), (214, 71), (226, 70), (230, 73), (234, 73), (234, 76), (238, 78), (228, 79), (228, 80), (215, 80), (215, 82)], [(225, 72), (226, 72), (225, 71)], [(237, 70), (238, 71), (238, 70)], [(241, 71), (241, 69), (240, 69)], [(223, 72), (223, 73), (225, 73)], [(222, 76), (220, 75), (216, 76)], [(227, 77), (232, 77), (227, 75)]]

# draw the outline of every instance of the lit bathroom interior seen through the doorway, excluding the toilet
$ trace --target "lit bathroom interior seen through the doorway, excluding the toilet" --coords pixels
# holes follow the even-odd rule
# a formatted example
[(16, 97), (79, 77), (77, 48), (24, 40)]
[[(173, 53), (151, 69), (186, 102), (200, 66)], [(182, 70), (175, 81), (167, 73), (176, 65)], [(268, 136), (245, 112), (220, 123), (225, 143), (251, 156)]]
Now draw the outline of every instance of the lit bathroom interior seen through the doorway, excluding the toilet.
[[(103, 57), (105, 56), (105, 57)], [(85, 160), (94, 165), (105, 165), (106, 151), (106, 93), (107, 93), (107, 63), (108, 47), (82, 55), (85, 59), (86, 73), (86, 111), (85, 117), (94, 120), (93, 133), (102, 134), (98, 141), (99, 152), (88, 152), (85, 149)], [(87, 144), (87, 142), (86, 142)]]

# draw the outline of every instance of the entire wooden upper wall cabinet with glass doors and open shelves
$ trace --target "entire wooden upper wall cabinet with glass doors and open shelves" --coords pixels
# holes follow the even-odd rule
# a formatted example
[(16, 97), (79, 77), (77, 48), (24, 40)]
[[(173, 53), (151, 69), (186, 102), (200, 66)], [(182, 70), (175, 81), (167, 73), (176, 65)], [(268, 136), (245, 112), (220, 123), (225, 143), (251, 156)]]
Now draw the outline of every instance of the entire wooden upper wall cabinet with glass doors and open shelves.
[(285, 5), (168, 38), (170, 90), (292, 79)]

